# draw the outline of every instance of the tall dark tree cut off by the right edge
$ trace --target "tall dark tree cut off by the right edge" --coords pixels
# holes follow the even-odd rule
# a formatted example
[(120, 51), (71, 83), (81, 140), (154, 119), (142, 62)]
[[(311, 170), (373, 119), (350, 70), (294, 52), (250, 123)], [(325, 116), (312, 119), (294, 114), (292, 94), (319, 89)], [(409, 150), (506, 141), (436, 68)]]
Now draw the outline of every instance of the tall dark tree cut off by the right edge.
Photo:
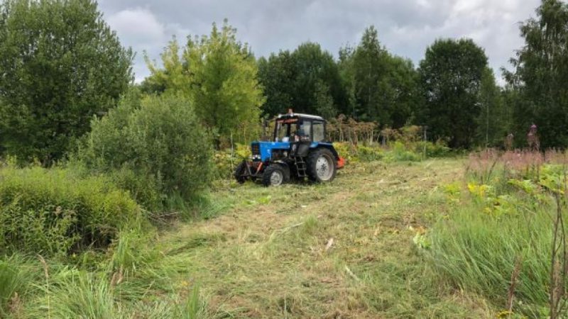
[[(520, 26), (525, 45), (511, 60), (508, 84), (518, 91), (513, 105), (516, 139), (524, 140), (532, 123), (542, 147), (568, 146), (568, 5), (543, 0), (537, 18)], [(526, 145), (524, 142), (522, 144)]]

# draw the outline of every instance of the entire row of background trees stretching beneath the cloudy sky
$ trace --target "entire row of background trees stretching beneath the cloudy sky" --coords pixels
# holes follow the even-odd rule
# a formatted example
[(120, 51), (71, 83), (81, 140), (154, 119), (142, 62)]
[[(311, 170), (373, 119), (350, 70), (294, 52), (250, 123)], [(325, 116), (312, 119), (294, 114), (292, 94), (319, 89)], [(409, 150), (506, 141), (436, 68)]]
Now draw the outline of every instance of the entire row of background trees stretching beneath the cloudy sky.
[[(525, 45), (496, 84), (484, 49), (438, 39), (418, 65), (389, 52), (369, 26), (337, 58), (302, 43), (255, 57), (227, 21), (209, 35), (173, 39), (151, 75), (133, 84), (133, 52), (91, 0), (7, 0), (0, 4), (0, 152), (50, 164), (76, 149), (93, 121), (129, 91), (188, 102), (214, 145), (248, 142), (261, 121), (316, 113), (374, 123), (420, 125), (454, 148), (526, 144), (537, 125), (542, 147), (568, 146), (568, 6), (542, 0), (520, 24)], [(201, 129), (201, 127), (200, 127)]]

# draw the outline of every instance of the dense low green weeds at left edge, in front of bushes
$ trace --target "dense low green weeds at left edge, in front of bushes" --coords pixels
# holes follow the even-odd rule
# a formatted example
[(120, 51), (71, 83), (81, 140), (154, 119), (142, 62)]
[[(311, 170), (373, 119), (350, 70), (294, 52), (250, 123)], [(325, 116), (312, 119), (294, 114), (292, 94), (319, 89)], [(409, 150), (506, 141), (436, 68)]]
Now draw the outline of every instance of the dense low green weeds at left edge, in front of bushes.
[(141, 211), (104, 177), (70, 169), (0, 169), (0, 252), (46, 256), (107, 247), (122, 228), (140, 225)]

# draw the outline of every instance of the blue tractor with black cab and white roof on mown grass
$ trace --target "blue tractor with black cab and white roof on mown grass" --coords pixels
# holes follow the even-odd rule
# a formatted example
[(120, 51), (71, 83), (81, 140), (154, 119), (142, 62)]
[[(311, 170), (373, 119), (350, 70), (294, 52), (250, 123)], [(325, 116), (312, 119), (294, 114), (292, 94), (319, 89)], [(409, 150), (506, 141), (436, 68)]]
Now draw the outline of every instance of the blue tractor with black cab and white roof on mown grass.
[(239, 183), (260, 180), (278, 186), (290, 179), (332, 181), (345, 161), (332, 142), (325, 140), (326, 121), (321, 116), (302, 113), (280, 114), (274, 120), (271, 141), (252, 142), (252, 158), (241, 162), (234, 177)]

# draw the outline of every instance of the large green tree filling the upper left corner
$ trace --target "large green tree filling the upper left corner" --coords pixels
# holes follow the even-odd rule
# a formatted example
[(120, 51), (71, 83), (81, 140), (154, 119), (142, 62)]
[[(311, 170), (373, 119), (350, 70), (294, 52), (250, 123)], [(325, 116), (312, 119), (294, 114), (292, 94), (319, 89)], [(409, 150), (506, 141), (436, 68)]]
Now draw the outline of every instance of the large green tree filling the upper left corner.
[(132, 53), (90, 0), (0, 3), (0, 135), (21, 161), (60, 159), (116, 106)]

